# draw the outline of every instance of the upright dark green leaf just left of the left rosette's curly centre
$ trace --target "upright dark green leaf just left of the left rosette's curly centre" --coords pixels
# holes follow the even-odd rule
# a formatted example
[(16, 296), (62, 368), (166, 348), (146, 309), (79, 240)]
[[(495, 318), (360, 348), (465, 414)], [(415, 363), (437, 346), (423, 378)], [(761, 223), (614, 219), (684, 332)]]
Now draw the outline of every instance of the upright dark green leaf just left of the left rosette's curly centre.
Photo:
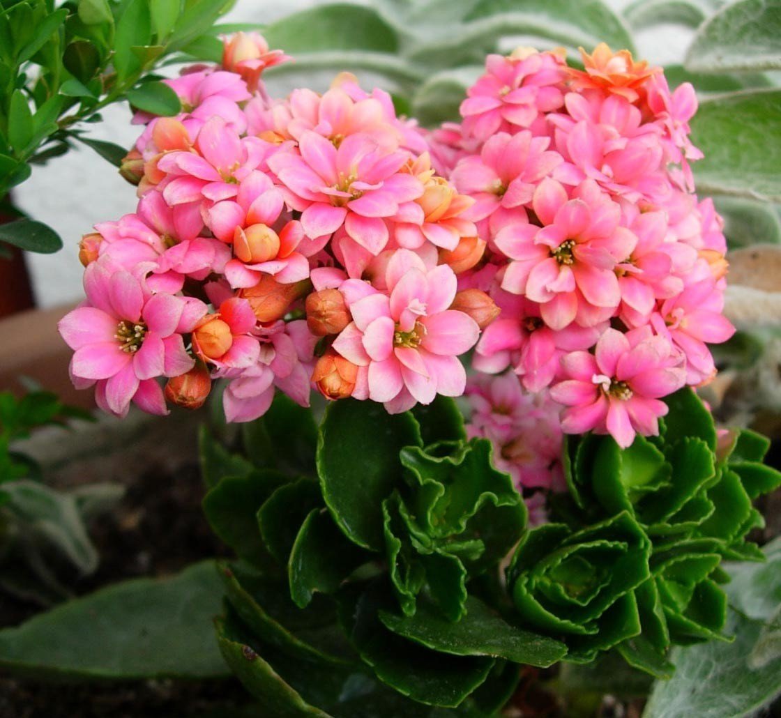
[(304, 608), (315, 592), (335, 593), (368, 556), (344, 538), (325, 510), (312, 509), (287, 564), (293, 602)]

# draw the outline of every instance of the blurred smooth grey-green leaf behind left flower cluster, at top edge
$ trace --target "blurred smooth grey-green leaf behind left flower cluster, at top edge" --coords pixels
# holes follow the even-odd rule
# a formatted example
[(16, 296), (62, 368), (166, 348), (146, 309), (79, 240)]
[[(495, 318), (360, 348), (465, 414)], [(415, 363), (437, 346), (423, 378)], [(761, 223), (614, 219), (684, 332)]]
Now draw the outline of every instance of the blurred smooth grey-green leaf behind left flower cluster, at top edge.
[(398, 34), (370, 6), (334, 3), (295, 12), (263, 30), (273, 48), (285, 52), (369, 50), (396, 54)]

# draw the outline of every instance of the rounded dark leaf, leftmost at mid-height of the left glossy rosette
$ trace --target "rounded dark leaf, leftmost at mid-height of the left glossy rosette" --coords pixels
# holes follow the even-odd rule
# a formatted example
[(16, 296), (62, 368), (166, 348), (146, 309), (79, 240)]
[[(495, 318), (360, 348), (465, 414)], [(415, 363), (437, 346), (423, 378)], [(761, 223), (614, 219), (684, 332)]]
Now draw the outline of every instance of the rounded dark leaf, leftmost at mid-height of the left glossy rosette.
[(212, 531), (242, 558), (268, 565), (272, 559), (263, 545), (257, 514), (262, 503), (286, 481), (284, 475), (269, 470), (223, 478), (203, 497), (203, 511)]

